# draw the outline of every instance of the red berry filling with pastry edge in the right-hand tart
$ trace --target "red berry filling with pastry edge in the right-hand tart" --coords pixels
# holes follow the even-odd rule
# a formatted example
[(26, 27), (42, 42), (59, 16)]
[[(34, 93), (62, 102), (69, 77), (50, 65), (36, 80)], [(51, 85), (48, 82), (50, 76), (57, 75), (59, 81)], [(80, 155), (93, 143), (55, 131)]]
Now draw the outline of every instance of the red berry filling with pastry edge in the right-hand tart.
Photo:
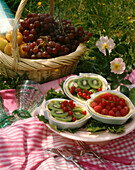
[(87, 103), (89, 110), (95, 115), (108, 118), (128, 118), (134, 113), (130, 100), (121, 93), (102, 92)]

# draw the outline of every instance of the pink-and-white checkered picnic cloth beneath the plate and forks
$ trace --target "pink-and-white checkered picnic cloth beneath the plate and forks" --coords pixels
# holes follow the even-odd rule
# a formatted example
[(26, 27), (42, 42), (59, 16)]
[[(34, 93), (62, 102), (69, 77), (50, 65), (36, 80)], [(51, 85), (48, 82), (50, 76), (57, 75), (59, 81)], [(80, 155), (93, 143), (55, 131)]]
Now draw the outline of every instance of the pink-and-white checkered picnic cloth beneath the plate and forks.
[[(65, 78), (64, 78), (65, 79)], [(64, 80), (62, 79), (62, 80)], [(43, 85), (45, 93), (48, 88), (58, 88), (61, 79)], [(6, 110), (16, 109), (14, 90), (0, 91)], [(135, 169), (135, 130), (126, 136), (110, 141), (101, 146), (90, 144), (95, 151), (105, 155), (127, 157), (132, 160), (131, 165), (110, 162), (118, 170)], [(20, 120), (0, 129), (0, 169), (2, 170), (77, 170), (71, 162), (54, 154), (46, 152), (47, 148), (53, 147), (76, 147), (71, 139), (64, 138), (54, 132), (37, 118)], [(83, 156), (83, 161), (104, 165), (96, 158)], [(100, 168), (99, 168), (100, 169)]]

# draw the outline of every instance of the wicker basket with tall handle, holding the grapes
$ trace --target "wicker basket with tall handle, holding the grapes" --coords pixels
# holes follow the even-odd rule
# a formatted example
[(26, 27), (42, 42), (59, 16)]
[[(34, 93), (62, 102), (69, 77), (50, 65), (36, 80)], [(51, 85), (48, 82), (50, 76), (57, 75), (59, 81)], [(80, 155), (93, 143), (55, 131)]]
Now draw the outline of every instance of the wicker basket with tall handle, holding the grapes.
[[(24, 59), (19, 55), (17, 45), (17, 23), (21, 18), (27, 0), (22, 0), (17, 9), (12, 35), (12, 56), (0, 51), (0, 72), (4, 76), (15, 77), (27, 74), (28, 79), (36, 82), (47, 82), (72, 74), (86, 47), (80, 44), (75, 52), (51, 59)], [(53, 1), (50, 0), (50, 14), (53, 13)]]

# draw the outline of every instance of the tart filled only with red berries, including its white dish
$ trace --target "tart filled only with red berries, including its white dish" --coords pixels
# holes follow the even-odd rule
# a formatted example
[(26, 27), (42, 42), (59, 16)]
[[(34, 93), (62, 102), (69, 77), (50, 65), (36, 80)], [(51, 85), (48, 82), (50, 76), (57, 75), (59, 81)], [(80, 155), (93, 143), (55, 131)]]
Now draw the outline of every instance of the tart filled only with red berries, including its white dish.
[(96, 93), (86, 105), (94, 119), (107, 124), (123, 124), (135, 113), (130, 99), (113, 90)]

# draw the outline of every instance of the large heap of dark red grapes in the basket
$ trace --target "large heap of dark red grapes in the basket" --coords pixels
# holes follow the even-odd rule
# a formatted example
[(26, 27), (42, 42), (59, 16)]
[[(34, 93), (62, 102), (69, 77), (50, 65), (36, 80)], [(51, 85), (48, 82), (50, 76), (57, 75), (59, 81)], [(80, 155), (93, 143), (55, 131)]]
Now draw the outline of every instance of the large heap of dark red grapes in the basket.
[(91, 32), (77, 29), (70, 20), (55, 20), (48, 13), (27, 14), (20, 22), (23, 35), (25, 58), (43, 59), (67, 55), (76, 50), (80, 43), (88, 41)]

